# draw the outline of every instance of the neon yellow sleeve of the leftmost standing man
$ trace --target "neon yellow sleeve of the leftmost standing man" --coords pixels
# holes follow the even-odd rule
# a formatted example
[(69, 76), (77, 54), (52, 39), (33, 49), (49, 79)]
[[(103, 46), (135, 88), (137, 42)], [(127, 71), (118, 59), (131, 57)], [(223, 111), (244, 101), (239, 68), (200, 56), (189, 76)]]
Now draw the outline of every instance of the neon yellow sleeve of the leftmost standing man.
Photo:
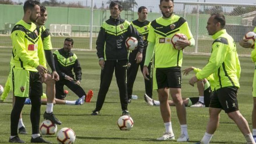
[(11, 34), (15, 54), (17, 54), (21, 61), (24, 62), (26, 65), (37, 68), (39, 63), (31, 58), (31, 56), (29, 56), (29, 54), (27, 53), (24, 37), (25, 33), (19, 30), (13, 31), (13, 33)]

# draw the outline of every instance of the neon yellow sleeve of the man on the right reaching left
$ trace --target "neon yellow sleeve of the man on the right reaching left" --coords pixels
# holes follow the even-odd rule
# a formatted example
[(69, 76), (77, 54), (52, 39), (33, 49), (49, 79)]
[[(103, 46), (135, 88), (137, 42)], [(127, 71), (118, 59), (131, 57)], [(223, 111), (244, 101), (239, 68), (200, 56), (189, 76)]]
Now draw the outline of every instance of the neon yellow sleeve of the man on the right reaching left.
[(207, 65), (196, 74), (197, 79), (204, 79), (216, 72), (220, 65), (224, 62), (227, 55), (227, 45), (222, 42), (214, 42), (212, 45), (212, 53)]

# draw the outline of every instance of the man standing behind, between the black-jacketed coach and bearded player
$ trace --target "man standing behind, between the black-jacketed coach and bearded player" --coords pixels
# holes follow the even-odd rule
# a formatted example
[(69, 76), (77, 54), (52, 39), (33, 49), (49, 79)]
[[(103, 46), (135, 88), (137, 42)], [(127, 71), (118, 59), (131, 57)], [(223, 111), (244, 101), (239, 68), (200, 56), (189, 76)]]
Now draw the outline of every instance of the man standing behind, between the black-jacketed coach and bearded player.
[[(147, 48), (147, 35), (149, 32), (150, 22), (147, 19), (147, 8), (145, 6), (141, 6), (138, 8), (138, 19), (131, 22), (132, 26), (137, 29), (141, 35), (143, 35), (144, 41), (144, 50), (141, 53), (138, 49), (131, 51), (129, 54), (129, 65), (127, 70), (127, 95), (128, 95), (128, 102), (131, 102), (131, 95), (132, 95), (132, 88), (134, 81), (137, 76), (138, 68), (141, 67), (141, 72), (143, 72), (143, 66), (145, 62), (145, 55), (146, 55), (146, 48)], [(144, 79), (145, 82), (145, 90), (146, 94), (152, 98), (152, 62), (150, 61), (148, 65), (149, 69), (149, 80)]]

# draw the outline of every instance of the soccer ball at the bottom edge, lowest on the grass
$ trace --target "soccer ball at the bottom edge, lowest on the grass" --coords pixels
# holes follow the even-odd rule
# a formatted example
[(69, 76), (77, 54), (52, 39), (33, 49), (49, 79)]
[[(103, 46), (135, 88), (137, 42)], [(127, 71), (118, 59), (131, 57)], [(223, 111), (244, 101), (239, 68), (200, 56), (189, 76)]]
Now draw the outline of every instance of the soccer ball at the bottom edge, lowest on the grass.
[(67, 127), (62, 128), (57, 135), (57, 140), (60, 144), (71, 144), (74, 143), (75, 139), (75, 132)]

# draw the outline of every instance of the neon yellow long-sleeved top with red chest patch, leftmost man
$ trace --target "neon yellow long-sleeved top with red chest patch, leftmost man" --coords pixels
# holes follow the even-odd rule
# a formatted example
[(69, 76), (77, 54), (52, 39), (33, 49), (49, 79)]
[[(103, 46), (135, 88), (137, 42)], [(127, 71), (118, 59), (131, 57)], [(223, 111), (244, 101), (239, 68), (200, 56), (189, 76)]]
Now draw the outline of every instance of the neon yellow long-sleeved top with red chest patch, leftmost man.
[(38, 65), (46, 67), (40, 29), (34, 23), (27, 24), (23, 20), (17, 22), (12, 30), (11, 39), (13, 43), (11, 65), (35, 72)]

